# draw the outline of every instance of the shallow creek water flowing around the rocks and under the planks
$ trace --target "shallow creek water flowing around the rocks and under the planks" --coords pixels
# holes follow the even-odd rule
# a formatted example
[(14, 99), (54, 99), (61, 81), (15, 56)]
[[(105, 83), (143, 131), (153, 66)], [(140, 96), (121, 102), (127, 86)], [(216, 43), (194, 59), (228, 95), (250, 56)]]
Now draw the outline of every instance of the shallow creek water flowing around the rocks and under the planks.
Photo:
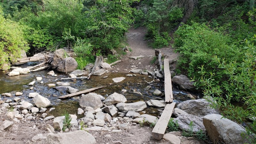
[[(28, 65), (32, 66), (35, 64), (36, 64), (35, 62), (28, 63), (21, 67), (27, 67)], [(48, 113), (48, 116), (50, 115), (60, 116), (65, 110), (68, 111), (69, 114), (76, 114), (77, 108), (79, 108), (78, 99), (71, 98), (68, 100), (60, 100), (59, 99), (60, 96), (66, 95), (68, 93), (65, 91), (59, 92), (53, 88), (47, 87), (47, 84), (56, 83), (60, 81), (60, 78), (66, 78), (68, 77), (68, 75), (55, 72), (55, 74), (57, 74), (58, 76), (54, 77), (54, 76), (47, 75), (49, 71), (50, 70), (42, 70), (38, 72), (33, 72), (31, 74), (27, 74), (27, 75), (19, 75), (19, 76), (12, 76), (12, 77), (6, 75), (8, 71), (0, 72), (0, 93), (10, 92), (14, 95), (15, 92), (23, 92), (23, 95), (19, 97), (28, 102), (34, 103), (32, 99), (28, 98), (28, 94), (30, 92), (38, 92), (40, 95), (47, 97), (51, 101), (52, 107), (55, 108), (55, 110), (50, 113), (46, 111)], [(71, 84), (70, 85), (71, 87), (74, 87), (80, 91), (88, 88), (96, 87), (96, 86), (106, 85), (107, 87), (94, 91), (95, 93), (100, 94), (105, 98), (107, 98), (107, 95), (110, 95), (114, 92), (121, 93), (121, 90), (125, 89), (127, 90), (127, 92), (124, 93), (123, 95), (126, 97), (127, 103), (136, 102), (136, 101), (146, 102), (147, 100), (154, 99), (156, 96), (154, 96), (152, 93), (154, 92), (155, 89), (158, 89), (161, 92), (164, 92), (163, 81), (161, 81), (160, 83), (157, 83), (156, 84), (157, 86), (151, 85), (152, 88), (148, 91), (145, 91), (143, 88), (145, 88), (149, 84), (147, 84), (143, 80), (144, 77), (145, 77), (145, 80), (148, 82), (152, 81), (153, 78), (149, 78), (146, 75), (140, 75), (140, 74), (136, 74), (136, 75), (137, 76), (128, 77), (128, 76), (125, 76), (124, 73), (109, 72), (109, 73), (105, 73), (102, 76), (92, 76), (90, 80), (78, 80), (78, 79), (76, 81), (62, 80), (61, 82), (69, 82)], [(40, 83), (41, 81), (36, 81), (36, 83), (33, 86), (34, 89), (30, 90), (31, 86), (28, 86), (28, 83), (35, 80), (36, 77), (38, 76), (43, 77), (42, 81), (44, 83)], [(103, 78), (104, 76), (108, 76), (108, 77), (104, 79)], [(125, 77), (125, 79), (122, 82), (113, 83), (112, 78), (116, 78), (116, 77)], [(132, 90), (134, 89), (141, 92), (143, 96), (133, 93)], [(176, 89), (175, 87), (173, 87), (172, 90), (173, 90), (174, 102), (179, 103), (184, 100), (189, 100), (189, 98), (186, 97), (187, 93), (182, 92)], [(164, 99), (164, 94), (162, 94), (161, 98)], [(161, 108), (148, 107), (145, 109), (145, 111), (147, 114), (158, 116), (160, 113), (159, 111), (157, 111), (158, 109), (161, 109)], [(82, 117), (83, 116), (78, 116), (78, 118), (82, 118)]]

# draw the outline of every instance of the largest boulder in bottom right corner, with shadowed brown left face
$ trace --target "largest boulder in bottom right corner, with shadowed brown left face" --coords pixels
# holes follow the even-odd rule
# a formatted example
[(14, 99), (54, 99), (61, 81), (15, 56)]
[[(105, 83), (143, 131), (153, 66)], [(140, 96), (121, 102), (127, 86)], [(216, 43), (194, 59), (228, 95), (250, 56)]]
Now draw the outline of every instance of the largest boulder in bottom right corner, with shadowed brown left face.
[(206, 115), (203, 118), (203, 123), (213, 143), (249, 143), (241, 136), (242, 133), (246, 133), (244, 128), (227, 118), (222, 118), (221, 115)]

